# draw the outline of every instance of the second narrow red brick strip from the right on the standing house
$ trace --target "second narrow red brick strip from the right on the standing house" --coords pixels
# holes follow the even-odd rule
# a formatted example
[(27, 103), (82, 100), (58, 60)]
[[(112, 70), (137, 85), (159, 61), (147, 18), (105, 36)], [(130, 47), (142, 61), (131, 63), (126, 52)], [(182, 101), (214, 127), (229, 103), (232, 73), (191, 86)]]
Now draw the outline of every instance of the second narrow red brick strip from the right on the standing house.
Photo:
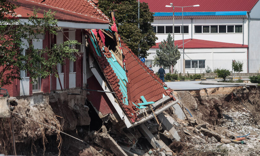
[[(63, 29), (63, 31), (68, 31), (69, 29)], [(66, 35), (66, 36), (65, 36)], [(64, 33), (63, 41), (68, 41), (69, 32)], [(70, 60), (65, 59), (65, 65), (63, 66), (64, 70), (64, 89), (69, 88), (69, 73), (70, 73)]]

